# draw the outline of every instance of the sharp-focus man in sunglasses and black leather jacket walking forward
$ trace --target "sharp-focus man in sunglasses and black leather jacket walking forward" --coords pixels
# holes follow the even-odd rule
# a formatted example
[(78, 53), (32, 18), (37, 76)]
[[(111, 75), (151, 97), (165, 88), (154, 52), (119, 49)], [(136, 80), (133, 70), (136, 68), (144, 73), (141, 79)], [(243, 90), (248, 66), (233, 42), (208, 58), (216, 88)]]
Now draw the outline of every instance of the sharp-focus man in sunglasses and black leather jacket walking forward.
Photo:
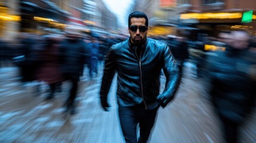
[[(109, 110), (107, 94), (115, 72), (118, 73), (119, 120), (126, 142), (147, 142), (157, 110), (174, 98), (180, 75), (169, 47), (147, 38), (147, 15), (129, 14), (127, 41), (113, 45), (105, 59), (100, 89), (101, 105)], [(166, 84), (159, 95), (159, 75), (164, 70)], [(140, 125), (137, 141), (136, 126)]]

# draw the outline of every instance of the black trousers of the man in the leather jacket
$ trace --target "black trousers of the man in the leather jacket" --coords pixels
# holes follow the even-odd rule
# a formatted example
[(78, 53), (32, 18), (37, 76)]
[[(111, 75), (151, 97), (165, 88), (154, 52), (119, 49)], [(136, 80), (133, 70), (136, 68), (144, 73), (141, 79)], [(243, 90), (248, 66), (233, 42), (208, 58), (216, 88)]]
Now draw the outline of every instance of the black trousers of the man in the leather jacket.
[[(155, 123), (158, 108), (145, 110), (144, 104), (132, 107), (119, 107), (119, 120), (127, 143), (147, 142), (150, 131)], [(137, 141), (137, 125), (140, 126), (140, 138)]]

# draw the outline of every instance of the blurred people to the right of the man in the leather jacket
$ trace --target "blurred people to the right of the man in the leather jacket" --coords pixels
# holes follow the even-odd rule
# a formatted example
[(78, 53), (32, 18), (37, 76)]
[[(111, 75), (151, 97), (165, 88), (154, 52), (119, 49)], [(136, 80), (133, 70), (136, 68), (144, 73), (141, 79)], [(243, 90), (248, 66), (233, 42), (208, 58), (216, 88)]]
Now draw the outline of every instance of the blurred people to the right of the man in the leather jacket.
[(239, 141), (239, 128), (254, 111), (256, 100), (256, 41), (245, 30), (221, 31), (217, 38), (167, 41), (182, 72), (184, 60), (196, 65), (196, 77), (204, 82), (224, 139)]

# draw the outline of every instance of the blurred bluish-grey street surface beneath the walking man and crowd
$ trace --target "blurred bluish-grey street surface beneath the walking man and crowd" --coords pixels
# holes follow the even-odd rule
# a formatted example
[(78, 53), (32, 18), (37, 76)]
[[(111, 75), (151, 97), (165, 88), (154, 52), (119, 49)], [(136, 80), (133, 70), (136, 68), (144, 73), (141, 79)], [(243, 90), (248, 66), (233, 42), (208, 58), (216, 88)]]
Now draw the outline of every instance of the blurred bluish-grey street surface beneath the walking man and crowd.
[[(203, 82), (193, 75), (192, 64), (187, 63), (185, 68), (177, 97), (158, 111), (151, 143), (222, 141)], [(0, 68), (0, 142), (124, 142), (117, 114), (116, 80), (109, 94), (111, 108), (106, 112), (101, 109), (98, 95), (101, 75), (94, 79), (88, 79), (88, 74), (82, 77), (76, 100), (78, 113), (70, 116), (63, 113), (62, 107), (68, 82), (63, 83), (63, 91), (53, 100), (45, 101), (47, 86), (42, 85), (36, 93), (36, 83), (18, 82), (15, 67)], [(161, 83), (164, 81), (162, 77)], [(255, 112), (241, 130), (241, 142), (256, 142)]]

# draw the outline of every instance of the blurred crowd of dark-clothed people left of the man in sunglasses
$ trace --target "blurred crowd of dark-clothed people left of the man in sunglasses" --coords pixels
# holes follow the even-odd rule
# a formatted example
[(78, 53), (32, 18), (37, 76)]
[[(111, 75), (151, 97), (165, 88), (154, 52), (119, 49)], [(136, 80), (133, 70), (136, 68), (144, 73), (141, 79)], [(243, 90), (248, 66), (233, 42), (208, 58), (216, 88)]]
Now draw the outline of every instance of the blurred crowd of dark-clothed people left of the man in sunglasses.
[(127, 37), (122, 35), (85, 34), (73, 27), (67, 27), (62, 35), (20, 33), (14, 42), (0, 39), (0, 66), (17, 66), (21, 83), (46, 83), (49, 93), (45, 100), (54, 98), (55, 92), (61, 91), (61, 83), (68, 80), (71, 87), (64, 106), (74, 114), (76, 110), (73, 102), (85, 67), (89, 69), (88, 78), (97, 77), (98, 66), (102, 67), (110, 46), (125, 39)]

